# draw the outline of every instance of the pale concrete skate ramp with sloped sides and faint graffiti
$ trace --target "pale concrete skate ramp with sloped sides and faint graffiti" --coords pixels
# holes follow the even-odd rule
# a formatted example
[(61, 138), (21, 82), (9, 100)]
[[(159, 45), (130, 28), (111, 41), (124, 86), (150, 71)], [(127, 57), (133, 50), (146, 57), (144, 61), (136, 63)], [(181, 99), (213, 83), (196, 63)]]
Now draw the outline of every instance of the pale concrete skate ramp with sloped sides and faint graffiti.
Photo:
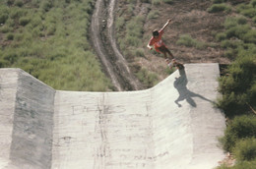
[(211, 169), (224, 159), (218, 64), (189, 64), (140, 91), (55, 91), (0, 70), (0, 166)]

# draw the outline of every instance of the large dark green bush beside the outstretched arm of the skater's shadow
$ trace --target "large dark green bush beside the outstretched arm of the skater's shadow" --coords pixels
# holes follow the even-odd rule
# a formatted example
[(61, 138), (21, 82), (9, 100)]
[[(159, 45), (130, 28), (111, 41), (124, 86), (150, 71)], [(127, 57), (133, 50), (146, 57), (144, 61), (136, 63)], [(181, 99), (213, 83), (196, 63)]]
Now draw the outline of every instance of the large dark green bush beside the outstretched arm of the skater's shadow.
[[(256, 60), (251, 50), (255, 48), (240, 49), (240, 55), (229, 66), (228, 76), (220, 79), (220, 90), (223, 98), (218, 101), (227, 116), (243, 114), (250, 110), (248, 105), (255, 105)], [(256, 52), (256, 51), (255, 51)], [(250, 55), (251, 54), (251, 55)]]

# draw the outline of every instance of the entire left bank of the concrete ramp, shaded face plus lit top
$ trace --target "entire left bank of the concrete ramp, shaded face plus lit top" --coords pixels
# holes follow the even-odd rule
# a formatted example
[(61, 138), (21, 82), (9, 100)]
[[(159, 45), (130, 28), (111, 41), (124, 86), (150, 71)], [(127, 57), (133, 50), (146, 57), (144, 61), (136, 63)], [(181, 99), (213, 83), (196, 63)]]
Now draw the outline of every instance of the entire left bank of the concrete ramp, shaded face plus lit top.
[(2, 168), (50, 168), (55, 90), (20, 69), (1, 69), (0, 77)]

